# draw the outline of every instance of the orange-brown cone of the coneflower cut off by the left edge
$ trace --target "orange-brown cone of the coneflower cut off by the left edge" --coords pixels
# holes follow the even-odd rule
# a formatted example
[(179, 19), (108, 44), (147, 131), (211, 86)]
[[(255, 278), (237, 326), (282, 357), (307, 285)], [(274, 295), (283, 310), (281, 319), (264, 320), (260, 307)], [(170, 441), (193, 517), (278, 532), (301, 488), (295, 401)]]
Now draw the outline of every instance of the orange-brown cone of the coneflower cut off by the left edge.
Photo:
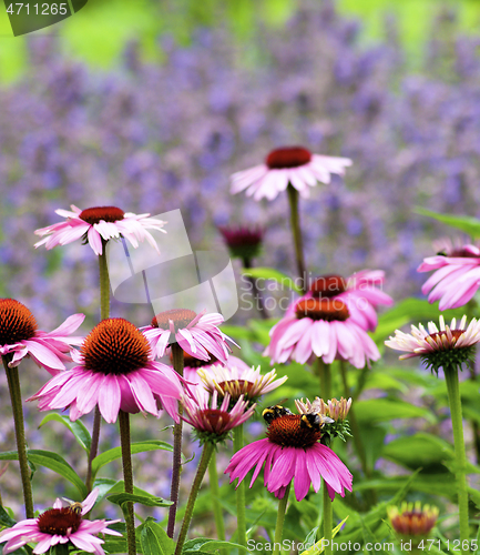
[(14, 299), (0, 299), (0, 345), (13, 345), (33, 337), (37, 321), (27, 306)]

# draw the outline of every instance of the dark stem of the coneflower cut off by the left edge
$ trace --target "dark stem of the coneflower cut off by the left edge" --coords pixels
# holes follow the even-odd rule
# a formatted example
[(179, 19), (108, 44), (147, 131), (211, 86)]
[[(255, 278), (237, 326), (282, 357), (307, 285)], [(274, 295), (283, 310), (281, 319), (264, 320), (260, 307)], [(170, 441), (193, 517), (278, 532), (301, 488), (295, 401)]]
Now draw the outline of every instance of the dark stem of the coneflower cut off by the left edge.
[(7, 381), (10, 392), (10, 402), (12, 405), (13, 424), (16, 428), (17, 453), (20, 464), (20, 475), (22, 480), (23, 501), (25, 503), (27, 518), (33, 518), (33, 495), (32, 484), (30, 482), (30, 468), (27, 458), (25, 428), (23, 424), (22, 393), (20, 390), (20, 379), (18, 367), (10, 369), (9, 362), (13, 356), (11, 354), (3, 355), (3, 367), (7, 373)]

